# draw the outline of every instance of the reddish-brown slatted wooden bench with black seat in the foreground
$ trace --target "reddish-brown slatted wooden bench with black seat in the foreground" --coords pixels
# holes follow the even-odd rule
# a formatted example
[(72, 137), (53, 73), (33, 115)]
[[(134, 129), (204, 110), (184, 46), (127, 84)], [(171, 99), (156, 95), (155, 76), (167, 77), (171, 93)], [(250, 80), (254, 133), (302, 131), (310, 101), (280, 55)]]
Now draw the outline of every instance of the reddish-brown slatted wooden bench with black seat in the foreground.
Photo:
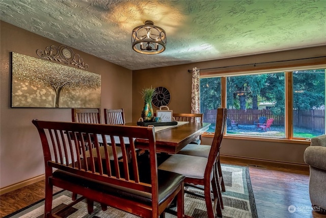
[[(93, 206), (96, 201), (101, 203), (103, 210), (106, 206), (111, 206), (150, 218), (163, 217), (165, 209), (176, 197), (177, 216), (184, 216), (184, 176), (157, 169), (153, 127), (48, 122), (36, 119), (33, 124), (38, 129), (44, 153), (44, 217), (58, 217), (51, 209), (53, 185), (83, 196), (87, 199), (88, 206)], [(103, 158), (100, 155), (99, 141), (107, 144), (106, 137), (111, 138), (113, 154), (109, 154), (107, 146), (102, 146), (105, 152)], [(122, 159), (118, 158), (116, 152), (117, 137)], [(130, 162), (124, 143), (126, 138), (129, 139)], [(132, 138), (149, 141), (148, 156), (136, 154)], [(94, 149), (88, 150), (89, 157), (83, 158), (86, 157), (85, 147), (91, 143)], [(89, 208), (89, 212), (92, 212), (92, 208)]]

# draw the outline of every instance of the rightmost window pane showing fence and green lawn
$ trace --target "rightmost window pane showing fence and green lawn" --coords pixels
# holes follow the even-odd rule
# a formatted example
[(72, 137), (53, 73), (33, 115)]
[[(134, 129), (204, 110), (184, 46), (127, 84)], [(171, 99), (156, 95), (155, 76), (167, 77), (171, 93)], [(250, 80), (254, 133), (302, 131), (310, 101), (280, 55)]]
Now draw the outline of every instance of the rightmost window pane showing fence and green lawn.
[(325, 69), (293, 71), (293, 137), (325, 134)]

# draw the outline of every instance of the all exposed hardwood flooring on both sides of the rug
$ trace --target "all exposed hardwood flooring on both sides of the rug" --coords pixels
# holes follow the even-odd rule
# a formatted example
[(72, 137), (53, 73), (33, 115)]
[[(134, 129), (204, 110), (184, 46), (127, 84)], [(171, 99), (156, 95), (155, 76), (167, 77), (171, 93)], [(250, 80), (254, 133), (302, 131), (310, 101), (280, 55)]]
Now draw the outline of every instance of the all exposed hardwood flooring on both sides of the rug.
[[(326, 217), (314, 212), (309, 199), (309, 169), (265, 161), (221, 157), (226, 164), (249, 166), (259, 218)], [(56, 188), (54, 192), (61, 190)], [(44, 181), (0, 196), (0, 217), (44, 198)], [(290, 213), (289, 206), (296, 211)]]

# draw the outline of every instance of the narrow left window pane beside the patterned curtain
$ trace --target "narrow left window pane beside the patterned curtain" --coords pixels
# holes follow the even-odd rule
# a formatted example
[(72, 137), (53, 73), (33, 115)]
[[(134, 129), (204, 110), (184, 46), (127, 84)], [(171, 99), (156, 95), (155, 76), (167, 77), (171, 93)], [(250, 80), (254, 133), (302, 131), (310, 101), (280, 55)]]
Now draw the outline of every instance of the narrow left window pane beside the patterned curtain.
[(217, 109), (221, 107), (221, 78), (200, 79), (200, 113), (203, 113), (203, 122), (210, 123), (207, 132), (214, 132)]

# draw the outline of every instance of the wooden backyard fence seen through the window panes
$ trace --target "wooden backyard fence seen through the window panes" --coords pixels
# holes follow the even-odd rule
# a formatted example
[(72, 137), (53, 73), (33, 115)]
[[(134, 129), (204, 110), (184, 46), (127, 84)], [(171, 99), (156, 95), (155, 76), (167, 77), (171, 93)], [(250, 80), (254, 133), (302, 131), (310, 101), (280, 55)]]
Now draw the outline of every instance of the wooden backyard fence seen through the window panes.
[[(217, 110), (206, 110), (203, 117), (204, 123), (216, 123)], [(265, 116), (274, 118), (273, 125), (285, 124), (285, 117), (282, 115), (274, 115), (270, 110), (237, 110), (228, 109), (228, 117), (240, 125), (254, 125), (258, 122), (259, 117)], [(325, 129), (325, 110), (294, 110), (293, 126), (307, 128), (313, 131), (323, 132)]]

